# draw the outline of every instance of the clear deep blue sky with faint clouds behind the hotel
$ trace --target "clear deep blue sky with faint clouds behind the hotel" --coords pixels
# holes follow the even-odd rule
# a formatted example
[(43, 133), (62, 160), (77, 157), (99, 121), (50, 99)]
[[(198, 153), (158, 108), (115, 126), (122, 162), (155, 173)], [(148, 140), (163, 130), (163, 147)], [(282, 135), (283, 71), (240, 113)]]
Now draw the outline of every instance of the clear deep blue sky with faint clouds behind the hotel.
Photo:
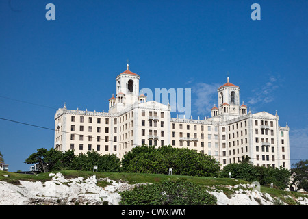
[[(47, 3), (55, 21), (45, 18)], [(64, 102), (107, 111), (129, 60), (140, 89), (191, 88), (193, 118), (210, 116), (229, 75), (253, 113), (277, 110), (288, 123), (291, 163), (308, 159), (307, 8), (305, 0), (1, 0), (0, 117), (54, 128)], [(31, 153), (53, 147), (53, 131), (5, 120), (0, 129), (10, 171), (28, 170)]]

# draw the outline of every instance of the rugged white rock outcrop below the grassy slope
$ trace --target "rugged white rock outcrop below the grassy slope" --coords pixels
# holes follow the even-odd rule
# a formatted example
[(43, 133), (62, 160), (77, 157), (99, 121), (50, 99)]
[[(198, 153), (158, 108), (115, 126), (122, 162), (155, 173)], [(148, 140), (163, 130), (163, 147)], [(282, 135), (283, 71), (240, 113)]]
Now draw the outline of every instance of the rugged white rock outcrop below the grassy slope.
[[(96, 176), (83, 179), (65, 179), (58, 172), (51, 173), (53, 178), (44, 183), (40, 181), (20, 181), (21, 185), (13, 185), (0, 181), (0, 205), (118, 205), (118, 192), (131, 190), (135, 186), (123, 181), (113, 181), (108, 178), (98, 179), (107, 181), (110, 185), (102, 188), (97, 185)], [(227, 186), (233, 190), (230, 195), (213, 187), (208, 192), (217, 198), (217, 205), (273, 205), (274, 198), (260, 192), (253, 185), (239, 184)], [(308, 198), (298, 198), (300, 205), (308, 205)]]

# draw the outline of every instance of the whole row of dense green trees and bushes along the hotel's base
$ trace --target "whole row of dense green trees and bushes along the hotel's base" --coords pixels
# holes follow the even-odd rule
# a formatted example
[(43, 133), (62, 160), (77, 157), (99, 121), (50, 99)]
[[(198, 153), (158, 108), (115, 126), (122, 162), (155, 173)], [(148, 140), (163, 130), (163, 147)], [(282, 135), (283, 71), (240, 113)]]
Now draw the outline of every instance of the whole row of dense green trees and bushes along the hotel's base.
[[(284, 189), (289, 185), (290, 171), (285, 168), (258, 167), (250, 163), (249, 157), (244, 162), (228, 164), (220, 170), (220, 164), (214, 157), (197, 153), (186, 148), (173, 148), (172, 146), (139, 146), (129, 151), (120, 161), (116, 155), (100, 155), (97, 151), (88, 151), (74, 155), (73, 151), (57, 151), (55, 149), (37, 149), (26, 160), (26, 164), (40, 164), (40, 172), (59, 170), (92, 171), (98, 166), (98, 172), (135, 172), (168, 174), (172, 168), (173, 175), (194, 177), (231, 177), (245, 181), (258, 181), (261, 185)], [(303, 165), (302, 165), (303, 166)], [(307, 166), (305, 164), (304, 166)], [(303, 168), (298, 168), (302, 170)], [(304, 172), (305, 171), (304, 169)], [(300, 180), (300, 178), (296, 178)], [(305, 181), (306, 179), (306, 181)], [(305, 175), (302, 185), (307, 184)]]

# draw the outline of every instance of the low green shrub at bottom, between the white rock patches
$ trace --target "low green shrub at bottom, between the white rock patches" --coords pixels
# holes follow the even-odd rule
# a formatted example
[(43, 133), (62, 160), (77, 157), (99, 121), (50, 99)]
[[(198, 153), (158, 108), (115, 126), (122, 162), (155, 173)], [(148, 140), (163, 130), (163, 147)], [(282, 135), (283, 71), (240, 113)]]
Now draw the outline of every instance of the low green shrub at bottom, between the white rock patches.
[(162, 181), (120, 192), (120, 205), (216, 205), (217, 198), (192, 182)]

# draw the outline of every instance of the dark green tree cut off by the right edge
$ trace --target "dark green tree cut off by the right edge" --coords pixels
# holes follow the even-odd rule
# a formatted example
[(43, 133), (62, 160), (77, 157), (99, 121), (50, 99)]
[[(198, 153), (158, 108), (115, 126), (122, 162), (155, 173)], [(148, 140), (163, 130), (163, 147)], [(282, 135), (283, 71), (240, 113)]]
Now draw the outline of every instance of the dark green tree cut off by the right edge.
[(308, 159), (300, 160), (291, 169), (293, 181), (292, 185), (297, 184), (298, 189), (308, 190)]

